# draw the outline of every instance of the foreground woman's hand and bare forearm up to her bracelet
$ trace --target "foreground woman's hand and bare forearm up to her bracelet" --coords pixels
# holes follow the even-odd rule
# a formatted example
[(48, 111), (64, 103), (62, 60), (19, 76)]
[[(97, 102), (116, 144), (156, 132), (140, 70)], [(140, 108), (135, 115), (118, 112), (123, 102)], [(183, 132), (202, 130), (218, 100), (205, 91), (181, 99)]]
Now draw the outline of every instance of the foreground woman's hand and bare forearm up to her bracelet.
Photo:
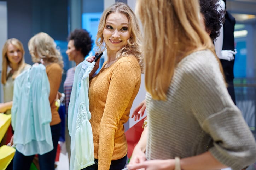
[(136, 169), (145, 169), (145, 170), (174, 170), (175, 169), (175, 160), (166, 159), (166, 160), (146, 160), (137, 164), (128, 164), (129, 170)]

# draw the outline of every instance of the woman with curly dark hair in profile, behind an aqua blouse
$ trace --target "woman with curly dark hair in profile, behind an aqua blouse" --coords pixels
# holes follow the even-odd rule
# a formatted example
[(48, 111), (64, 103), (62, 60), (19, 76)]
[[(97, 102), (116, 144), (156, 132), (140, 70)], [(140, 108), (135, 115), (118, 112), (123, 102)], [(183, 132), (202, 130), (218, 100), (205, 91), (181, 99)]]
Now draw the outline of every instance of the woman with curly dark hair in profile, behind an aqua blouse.
[[(84, 29), (75, 29), (68, 36), (68, 49), (66, 54), (68, 55), (69, 61), (74, 61), (76, 66), (84, 61), (85, 57), (89, 54), (92, 49), (93, 40), (88, 31)], [(70, 94), (72, 90), (73, 80), (75, 74), (75, 67), (68, 69), (67, 76), (64, 81), (64, 93), (65, 93), (65, 106), (66, 115), (68, 116), (68, 106), (70, 101)], [(67, 117), (66, 117), (66, 120)], [(65, 128), (65, 141), (70, 162), (70, 135), (68, 132), (67, 122)]]

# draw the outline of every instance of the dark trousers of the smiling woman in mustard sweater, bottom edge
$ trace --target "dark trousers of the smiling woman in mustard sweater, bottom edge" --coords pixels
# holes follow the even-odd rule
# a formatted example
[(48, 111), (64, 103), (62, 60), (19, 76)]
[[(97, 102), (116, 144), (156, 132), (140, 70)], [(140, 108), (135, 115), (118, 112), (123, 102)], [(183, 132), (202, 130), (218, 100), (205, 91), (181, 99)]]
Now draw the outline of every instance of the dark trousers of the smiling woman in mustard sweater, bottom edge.
[[(127, 155), (121, 159), (112, 160), (109, 170), (121, 170), (126, 165)], [(98, 159), (94, 160), (95, 164), (88, 166), (82, 170), (98, 170)]]

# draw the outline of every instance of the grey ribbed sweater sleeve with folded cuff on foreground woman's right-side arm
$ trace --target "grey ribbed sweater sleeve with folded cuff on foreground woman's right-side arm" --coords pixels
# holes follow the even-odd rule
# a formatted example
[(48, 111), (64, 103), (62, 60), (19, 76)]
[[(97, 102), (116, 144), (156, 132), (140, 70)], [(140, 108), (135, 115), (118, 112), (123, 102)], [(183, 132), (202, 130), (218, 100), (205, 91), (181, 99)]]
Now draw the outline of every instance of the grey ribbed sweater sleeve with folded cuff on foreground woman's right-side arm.
[(186, 68), (188, 103), (202, 129), (213, 139), (209, 151), (234, 170), (254, 163), (255, 139), (228, 94), (217, 59), (204, 56)]

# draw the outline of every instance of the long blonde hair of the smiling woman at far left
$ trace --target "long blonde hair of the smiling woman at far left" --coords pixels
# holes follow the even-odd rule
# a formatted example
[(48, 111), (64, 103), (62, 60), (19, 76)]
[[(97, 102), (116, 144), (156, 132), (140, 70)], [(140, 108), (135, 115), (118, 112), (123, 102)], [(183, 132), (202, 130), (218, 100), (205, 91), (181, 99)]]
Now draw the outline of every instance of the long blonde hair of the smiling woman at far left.
[(14, 73), (12, 75), (12, 79), (15, 79), (21, 73), (22, 69), (26, 65), (25, 60), (24, 60), (25, 51), (24, 51), (22, 43), (18, 39), (16, 39), (16, 38), (8, 39), (5, 42), (5, 44), (3, 46), (3, 50), (2, 50), (2, 78), (1, 78), (2, 84), (5, 84), (6, 81), (7, 81), (7, 69), (8, 69), (8, 66), (12, 67), (11, 62), (9, 61), (9, 59), (7, 57), (8, 46), (10, 44), (14, 45), (22, 53), (22, 59), (18, 63), (18, 70), (14, 71)]

